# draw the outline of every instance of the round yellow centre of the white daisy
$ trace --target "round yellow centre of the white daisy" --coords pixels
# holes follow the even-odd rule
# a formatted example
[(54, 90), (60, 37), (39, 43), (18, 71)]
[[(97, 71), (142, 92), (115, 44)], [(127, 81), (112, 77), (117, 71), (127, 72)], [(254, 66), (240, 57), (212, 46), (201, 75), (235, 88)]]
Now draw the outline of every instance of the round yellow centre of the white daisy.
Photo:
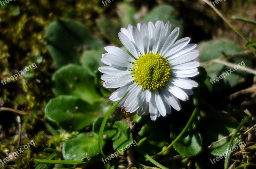
[(156, 90), (170, 78), (170, 64), (159, 54), (146, 53), (140, 56), (133, 69), (135, 81), (145, 89)]

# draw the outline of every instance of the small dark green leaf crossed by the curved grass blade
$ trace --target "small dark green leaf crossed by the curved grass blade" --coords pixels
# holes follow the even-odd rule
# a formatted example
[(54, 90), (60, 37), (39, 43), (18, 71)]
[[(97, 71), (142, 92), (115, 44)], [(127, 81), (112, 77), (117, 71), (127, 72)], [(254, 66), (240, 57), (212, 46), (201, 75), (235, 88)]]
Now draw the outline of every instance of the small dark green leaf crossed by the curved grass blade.
[[(93, 124), (92, 124), (92, 131), (95, 133), (95, 134), (98, 134), (99, 135), (99, 132), (100, 132), (100, 126), (101, 126), (101, 123), (103, 121), (104, 117), (100, 117), (98, 119), (96, 119)], [(113, 128), (113, 124), (114, 124), (114, 120), (113, 119), (108, 119), (105, 127), (104, 127), (104, 132), (103, 132), (103, 137), (104, 135), (106, 136), (105, 139), (111, 139), (117, 132), (117, 129), (116, 128)]]

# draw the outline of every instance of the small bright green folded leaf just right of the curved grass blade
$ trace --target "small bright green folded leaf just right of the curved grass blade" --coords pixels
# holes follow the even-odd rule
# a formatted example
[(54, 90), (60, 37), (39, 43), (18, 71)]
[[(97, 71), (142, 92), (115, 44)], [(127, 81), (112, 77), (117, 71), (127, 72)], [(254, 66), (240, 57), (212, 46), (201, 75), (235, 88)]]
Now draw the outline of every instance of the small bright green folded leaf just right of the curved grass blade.
[(126, 150), (125, 146), (132, 142), (132, 133), (130, 127), (124, 121), (116, 121), (113, 127), (118, 130), (113, 138), (114, 150), (122, 148)]

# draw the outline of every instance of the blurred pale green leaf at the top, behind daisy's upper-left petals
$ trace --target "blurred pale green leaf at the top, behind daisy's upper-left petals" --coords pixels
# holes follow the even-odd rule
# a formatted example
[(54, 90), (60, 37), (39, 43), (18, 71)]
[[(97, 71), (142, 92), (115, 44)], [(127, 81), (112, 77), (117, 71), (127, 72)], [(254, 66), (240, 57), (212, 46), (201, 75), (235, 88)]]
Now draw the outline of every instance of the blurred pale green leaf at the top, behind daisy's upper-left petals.
[(127, 4), (127, 3), (120, 3), (117, 5), (117, 14), (122, 22), (122, 27), (125, 27), (130, 24), (132, 26), (136, 26), (135, 20), (135, 13), (136, 9)]

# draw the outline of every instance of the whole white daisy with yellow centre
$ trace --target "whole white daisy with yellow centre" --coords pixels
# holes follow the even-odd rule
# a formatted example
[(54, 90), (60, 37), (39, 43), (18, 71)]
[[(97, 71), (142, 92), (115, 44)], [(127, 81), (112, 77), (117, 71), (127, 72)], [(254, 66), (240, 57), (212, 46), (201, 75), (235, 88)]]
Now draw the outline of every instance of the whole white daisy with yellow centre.
[(170, 114), (171, 107), (179, 111), (179, 99), (186, 101), (193, 94), (191, 89), (198, 84), (188, 78), (199, 73), (199, 63), (193, 61), (198, 56), (196, 44), (188, 44), (188, 37), (176, 41), (179, 28), (170, 30), (170, 22), (163, 21), (127, 25), (118, 36), (132, 56), (118, 47), (105, 47), (108, 53), (101, 62), (108, 66), (99, 68), (103, 86), (118, 88), (110, 100), (116, 102), (128, 92), (119, 107), (131, 113), (138, 110), (139, 116), (149, 113), (156, 120)]

